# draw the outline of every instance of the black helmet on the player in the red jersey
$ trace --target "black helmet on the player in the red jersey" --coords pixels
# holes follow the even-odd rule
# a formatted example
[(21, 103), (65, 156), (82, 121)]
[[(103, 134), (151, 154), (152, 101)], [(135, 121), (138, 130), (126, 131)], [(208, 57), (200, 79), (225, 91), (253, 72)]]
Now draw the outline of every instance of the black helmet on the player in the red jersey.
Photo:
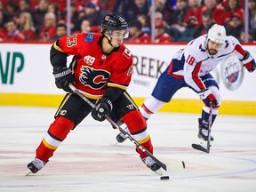
[(116, 13), (107, 14), (103, 18), (101, 22), (101, 29), (102, 33), (108, 31), (110, 35), (114, 30), (124, 30), (124, 38), (127, 38), (129, 35), (128, 23), (124, 20), (124, 17)]

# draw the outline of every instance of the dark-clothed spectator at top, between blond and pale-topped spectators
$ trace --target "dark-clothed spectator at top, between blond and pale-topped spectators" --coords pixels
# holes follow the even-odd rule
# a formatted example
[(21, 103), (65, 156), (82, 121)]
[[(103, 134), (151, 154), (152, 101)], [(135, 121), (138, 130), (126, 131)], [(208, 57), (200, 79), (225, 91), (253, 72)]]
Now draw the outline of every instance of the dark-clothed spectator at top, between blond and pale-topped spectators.
[(47, 0), (39, 0), (35, 12), (32, 13), (36, 34), (39, 34), (44, 28), (44, 15), (48, 12), (48, 6), (49, 3)]

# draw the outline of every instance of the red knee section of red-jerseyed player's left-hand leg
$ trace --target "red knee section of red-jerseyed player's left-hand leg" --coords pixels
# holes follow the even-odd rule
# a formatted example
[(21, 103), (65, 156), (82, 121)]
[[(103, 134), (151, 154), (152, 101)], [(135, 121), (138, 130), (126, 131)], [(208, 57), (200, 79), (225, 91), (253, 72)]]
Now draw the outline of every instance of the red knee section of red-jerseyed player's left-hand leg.
[(48, 133), (56, 139), (62, 141), (68, 135), (71, 129), (73, 129), (74, 123), (68, 118), (58, 116), (55, 121), (51, 124)]

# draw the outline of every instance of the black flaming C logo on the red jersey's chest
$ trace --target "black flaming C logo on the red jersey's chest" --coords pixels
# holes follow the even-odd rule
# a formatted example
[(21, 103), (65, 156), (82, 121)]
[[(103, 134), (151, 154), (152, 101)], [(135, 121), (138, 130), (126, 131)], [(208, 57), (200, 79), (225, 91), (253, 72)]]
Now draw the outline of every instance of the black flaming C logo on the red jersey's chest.
[(92, 89), (101, 89), (108, 82), (110, 74), (106, 70), (94, 69), (88, 66), (81, 68), (79, 81), (84, 86), (90, 86)]

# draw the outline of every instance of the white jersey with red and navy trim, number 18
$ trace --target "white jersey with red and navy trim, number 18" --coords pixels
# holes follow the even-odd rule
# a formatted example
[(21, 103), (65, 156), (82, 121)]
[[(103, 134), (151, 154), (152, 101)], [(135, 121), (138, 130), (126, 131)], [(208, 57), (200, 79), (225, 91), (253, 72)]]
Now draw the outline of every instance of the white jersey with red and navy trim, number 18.
[(176, 52), (172, 58), (168, 74), (176, 78), (184, 78), (185, 82), (197, 92), (206, 87), (200, 76), (204, 76), (216, 68), (221, 60), (226, 60), (234, 52), (239, 60), (244, 58), (245, 52), (234, 36), (227, 36), (220, 51), (210, 55), (206, 48), (207, 35), (199, 36), (190, 41), (186, 47)]

